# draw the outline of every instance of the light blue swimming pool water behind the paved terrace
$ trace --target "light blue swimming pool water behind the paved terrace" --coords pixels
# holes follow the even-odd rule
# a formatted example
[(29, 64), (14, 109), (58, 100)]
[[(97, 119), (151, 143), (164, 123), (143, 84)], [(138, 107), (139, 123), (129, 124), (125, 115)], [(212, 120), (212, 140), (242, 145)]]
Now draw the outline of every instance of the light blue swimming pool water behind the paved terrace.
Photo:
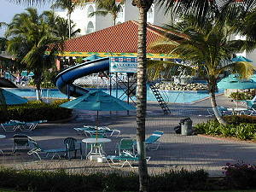
[[(22, 97), (36, 97), (36, 92), (34, 89), (6, 89), (9, 90), (12, 93), (15, 93), (18, 96)], [(93, 90), (93, 89), (90, 89)], [(109, 90), (104, 90), (104, 92), (109, 94)], [(148, 102), (157, 102), (152, 90), (149, 89), (147, 90), (147, 100)], [(222, 93), (223, 91), (220, 90), (218, 93)], [(209, 94), (207, 91), (202, 90), (202, 91), (178, 91), (178, 90), (160, 90), (160, 93), (162, 94), (163, 98), (167, 100), (167, 102), (176, 102), (176, 103), (191, 103), (191, 102), (196, 102), (201, 99), (207, 98)], [(112, 96), (118, 96), (122, 100), (127, 100), (127, 96), (125, 96), (123, 90), (112, 90), (111, 92)], [(122, 96), (123, 95), (123, 96)], [(43, 98), (67, 98), (67, 95), (61, 93), (57, 89), (42, 89), (42, 97)], [(136, 100), (136, 97), (132, 97), (133, 100)]]

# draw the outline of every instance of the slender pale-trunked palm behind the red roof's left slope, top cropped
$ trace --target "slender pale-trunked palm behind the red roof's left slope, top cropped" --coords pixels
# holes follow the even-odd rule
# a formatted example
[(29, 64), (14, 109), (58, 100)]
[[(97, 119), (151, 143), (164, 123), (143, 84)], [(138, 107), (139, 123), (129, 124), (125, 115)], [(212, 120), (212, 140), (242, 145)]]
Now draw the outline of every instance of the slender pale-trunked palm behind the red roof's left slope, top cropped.
[(71, 38), (71, 14), (73, 13), (74, 9), (76, 9), (81, 3), (84, 1), (76, 0), (55, 0), (55, 3), (52, 4), (50, 7), (51, 9), (67, 9), (67, 20), (68, 20), (68, 38)]

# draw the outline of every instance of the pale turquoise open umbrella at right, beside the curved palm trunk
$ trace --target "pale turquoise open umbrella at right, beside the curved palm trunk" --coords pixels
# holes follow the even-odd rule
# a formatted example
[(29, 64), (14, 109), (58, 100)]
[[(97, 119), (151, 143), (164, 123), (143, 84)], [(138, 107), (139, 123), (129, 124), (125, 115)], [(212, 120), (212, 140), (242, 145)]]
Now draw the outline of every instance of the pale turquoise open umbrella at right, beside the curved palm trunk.
[[(239, 74), (230, 74), (229, 77), (218, 82), (218, 89), (231, 89), (237, 92), (238, 90), (256, 89), (256, 82), (253, 79), (239, 79)], [(236, 102), (236, 108), (237, 105)]]

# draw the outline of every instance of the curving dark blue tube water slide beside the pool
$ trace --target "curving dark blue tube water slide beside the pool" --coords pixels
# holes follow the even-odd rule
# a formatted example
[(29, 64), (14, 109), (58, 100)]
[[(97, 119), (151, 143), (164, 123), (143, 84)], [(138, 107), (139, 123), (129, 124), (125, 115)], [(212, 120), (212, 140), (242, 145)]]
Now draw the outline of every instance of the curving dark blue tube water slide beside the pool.
[(73, 81), (91, 73), (99, 73), (106, 70), (109, 70), (108, 57), (87, 61), (74, 67), (67, 68), (59, 73), (55, 78), (55, 84), (57, 88), (66, 95), (67, 89), (69, 89), (69, 96), (83, 96), (84, 93), (87, 93), (89, 90), (74, 85)]

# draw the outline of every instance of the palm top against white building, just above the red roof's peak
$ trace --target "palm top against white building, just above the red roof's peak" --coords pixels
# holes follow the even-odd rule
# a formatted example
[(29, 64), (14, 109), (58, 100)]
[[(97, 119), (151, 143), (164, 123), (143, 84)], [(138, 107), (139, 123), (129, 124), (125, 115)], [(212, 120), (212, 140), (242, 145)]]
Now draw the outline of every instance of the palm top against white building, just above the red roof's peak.
[(116, 24), (116, 19), (118, 17), (120, 9), (122, 9), (122, 4), (124, 1), (121, 1), (121, 3), (116, 3), (115, 0), (98, 0), (96, 1), (97, 9), (95, 12), (90, 13), (90, 17), (94, 15), (103, 15), (106, 16), (108, 14), (112, 15), (113, 17), (113, 25)]

